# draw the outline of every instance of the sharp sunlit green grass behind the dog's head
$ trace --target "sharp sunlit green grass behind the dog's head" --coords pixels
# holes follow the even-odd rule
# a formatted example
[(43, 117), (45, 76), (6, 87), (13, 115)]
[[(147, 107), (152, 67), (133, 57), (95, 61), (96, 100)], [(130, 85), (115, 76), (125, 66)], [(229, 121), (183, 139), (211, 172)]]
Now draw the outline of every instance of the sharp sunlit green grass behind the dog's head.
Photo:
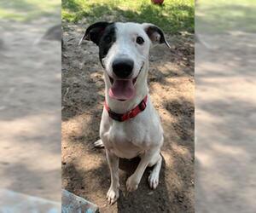
[(165, 32), (194, 32), (194, 0), (62, 0), (62, 20), (89, 24), (99, 20), (150, 22)]

